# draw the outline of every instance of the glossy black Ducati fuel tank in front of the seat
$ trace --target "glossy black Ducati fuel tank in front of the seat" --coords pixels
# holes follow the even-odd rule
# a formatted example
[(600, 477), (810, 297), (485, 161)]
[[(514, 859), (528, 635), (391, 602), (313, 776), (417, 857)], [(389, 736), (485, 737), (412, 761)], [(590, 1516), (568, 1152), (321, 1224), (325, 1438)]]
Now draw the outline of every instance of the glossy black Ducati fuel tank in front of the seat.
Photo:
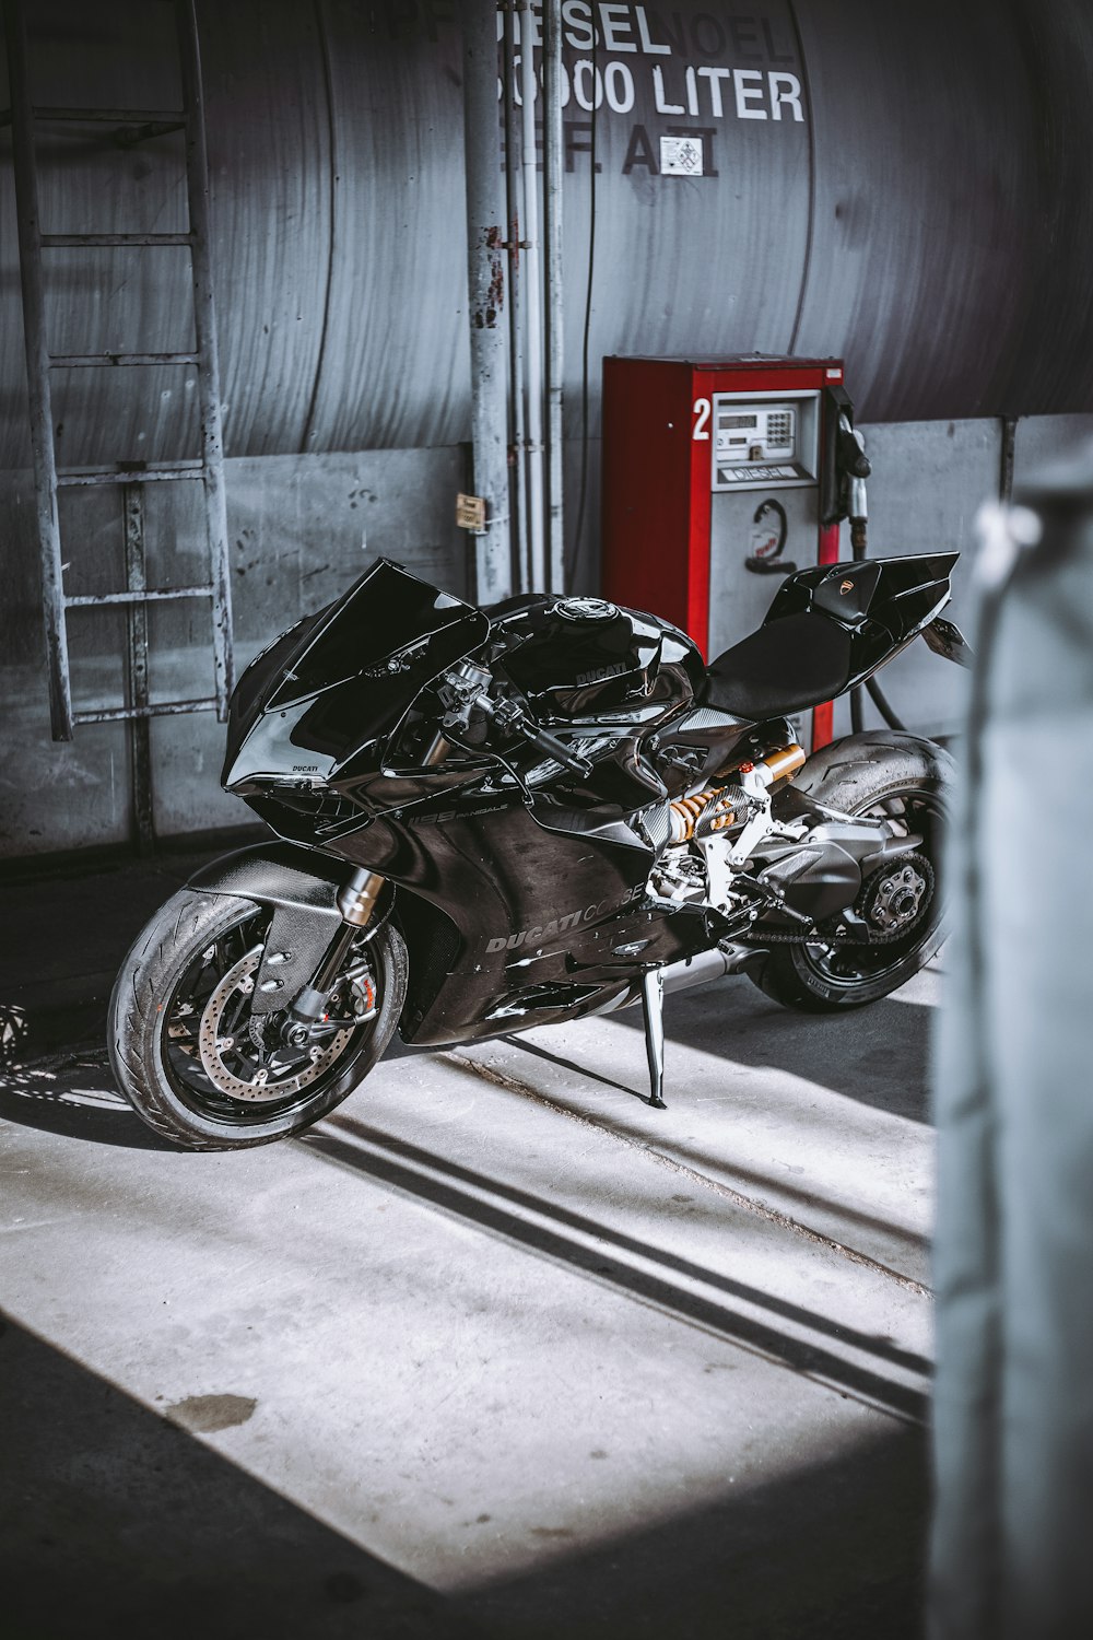
[(492, 612), (508, 645), (497, 669), (541, 720), (652, 723), (690, 705), (705, 667), (695, 643), (655, 615), (605, 599), (533, 597)]

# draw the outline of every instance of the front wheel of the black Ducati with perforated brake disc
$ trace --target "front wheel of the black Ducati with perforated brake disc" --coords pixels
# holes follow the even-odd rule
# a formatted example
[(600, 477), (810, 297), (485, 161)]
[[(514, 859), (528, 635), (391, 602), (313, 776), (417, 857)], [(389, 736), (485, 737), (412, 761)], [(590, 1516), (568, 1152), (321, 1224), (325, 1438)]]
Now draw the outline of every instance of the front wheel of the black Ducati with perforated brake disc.
[(182, 889), (147, 923), (110, 999), (121, 1092), (185, 1150), (243, 1150), (334, 1109), (390, 1041), (406, 994), (406, 948), (390, 925), (354, 941), (323, 1035), (302, 1048), (279, 1015), (251, 1009), (270, 910)]

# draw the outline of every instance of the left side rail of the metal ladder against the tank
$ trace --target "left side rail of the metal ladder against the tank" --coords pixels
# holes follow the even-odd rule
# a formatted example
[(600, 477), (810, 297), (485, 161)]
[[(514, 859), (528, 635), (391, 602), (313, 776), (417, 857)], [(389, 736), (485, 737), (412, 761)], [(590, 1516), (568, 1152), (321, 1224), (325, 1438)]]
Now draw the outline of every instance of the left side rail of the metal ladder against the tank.
[(34, 517), (38, 523), (38, 551), (41, 554), (46, 658), (49, 663), (49, 722), (54, 740), (72, 740), (72, 684), (69, 679), (69, 640), (64, 626), (61, 522), (57, 515), (57, 458), (52, 446), (49, 343), (46, 341), (46, 297), (41, 279), (34, 110), (26, 74), (26, 28), (23, 23), (23, 7), (18, 0), (5, 0), (3, 21), (8, 44), (8, 77), (11, 82), (11, 154), (15, 161), (15, 205), (20, 235), (26, 390), (29, 397), (31, 453), (34, 459)]

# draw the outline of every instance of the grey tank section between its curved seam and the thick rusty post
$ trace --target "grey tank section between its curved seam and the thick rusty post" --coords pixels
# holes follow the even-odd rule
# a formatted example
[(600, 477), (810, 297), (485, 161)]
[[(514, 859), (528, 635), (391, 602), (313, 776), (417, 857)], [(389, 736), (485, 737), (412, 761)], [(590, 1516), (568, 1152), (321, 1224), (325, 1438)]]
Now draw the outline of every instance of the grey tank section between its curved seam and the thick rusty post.
[[(369, 8), (372, 13), (372, 8)], [(310, 449), (470, 436), (459, 33), (392, 39), (354, 0), (321, 8), (338, 182), (324, 369)]]

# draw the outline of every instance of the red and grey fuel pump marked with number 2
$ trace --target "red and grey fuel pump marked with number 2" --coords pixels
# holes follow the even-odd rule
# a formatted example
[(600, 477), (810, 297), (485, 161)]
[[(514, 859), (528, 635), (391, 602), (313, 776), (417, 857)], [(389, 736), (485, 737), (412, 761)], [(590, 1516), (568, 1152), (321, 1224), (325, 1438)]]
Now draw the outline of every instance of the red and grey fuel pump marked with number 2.
[[(762, 623), (777, 577), (839, 558), (841, 359), (603, 361), (603, 594), (706, 659)], [(831, 740), (816, 707), (811, 745)]]

